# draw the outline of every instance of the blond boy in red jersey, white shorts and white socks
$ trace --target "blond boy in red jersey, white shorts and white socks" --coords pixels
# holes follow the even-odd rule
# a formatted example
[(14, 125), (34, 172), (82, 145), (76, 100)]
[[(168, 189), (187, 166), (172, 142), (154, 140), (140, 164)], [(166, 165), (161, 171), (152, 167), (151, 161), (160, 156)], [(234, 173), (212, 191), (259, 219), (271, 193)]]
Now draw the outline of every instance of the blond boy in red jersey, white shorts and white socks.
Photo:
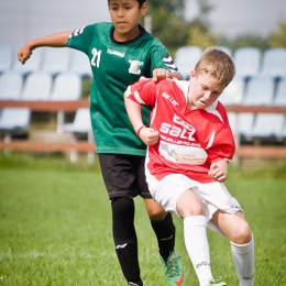
[[(240, 286), (253, 286), (253, 235), (222, 183), (235, 146), (218, 98), (234, 74), (232, 59), (210, 48), (191, 70), (190, 81), (141, 78), (124, 95), (133, 128), (147, 145), (150, 191), (166, 211), (184, 219), (185, 244), (200, 286), (227, 285), (213, 279), (207, 226), (230, 240)], [(141, 119), (144, 105), (152, 106), (150, 128)]]

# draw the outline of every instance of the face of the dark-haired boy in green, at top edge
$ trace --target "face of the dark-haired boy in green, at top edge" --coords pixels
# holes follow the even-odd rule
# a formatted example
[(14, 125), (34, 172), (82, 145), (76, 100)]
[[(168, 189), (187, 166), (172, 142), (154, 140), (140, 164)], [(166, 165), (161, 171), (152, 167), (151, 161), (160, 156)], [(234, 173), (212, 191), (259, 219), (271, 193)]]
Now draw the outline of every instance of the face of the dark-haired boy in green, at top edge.
[(114, 40), (124, 42), (139, 34), (139, 20), (147, 11), (147, 3), (139, 8), (136, 0), (110, 0), (109, 12), (114, 25)]

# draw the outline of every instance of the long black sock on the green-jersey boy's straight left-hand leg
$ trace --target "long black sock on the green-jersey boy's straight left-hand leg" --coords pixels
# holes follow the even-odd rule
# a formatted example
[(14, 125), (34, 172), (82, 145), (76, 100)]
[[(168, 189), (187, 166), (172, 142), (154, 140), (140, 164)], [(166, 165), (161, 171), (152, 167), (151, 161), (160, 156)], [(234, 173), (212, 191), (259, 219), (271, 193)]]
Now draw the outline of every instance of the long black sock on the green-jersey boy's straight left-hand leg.
[(128, 282), (143, 285), (138, 260), (134, 201), (128, 197), (116, 198), (111, 208), (113, 240), (122, 273)]

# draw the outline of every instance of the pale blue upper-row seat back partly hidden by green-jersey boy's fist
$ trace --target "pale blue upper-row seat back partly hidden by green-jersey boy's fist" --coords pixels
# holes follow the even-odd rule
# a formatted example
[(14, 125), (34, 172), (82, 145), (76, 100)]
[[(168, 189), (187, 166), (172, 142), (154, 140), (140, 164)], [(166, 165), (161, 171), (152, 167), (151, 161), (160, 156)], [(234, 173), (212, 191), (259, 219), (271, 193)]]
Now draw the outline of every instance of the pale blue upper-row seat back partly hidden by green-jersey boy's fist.
[(21, 73), (23, 76), (30, 73), (36, 73), (41, 70), (41, 64), (43, 59), (43, 50), (36, 48), (33, 51), (31, 57), (25, 62), (24, 65), (19, 61), (14, 61), (12, 70)]

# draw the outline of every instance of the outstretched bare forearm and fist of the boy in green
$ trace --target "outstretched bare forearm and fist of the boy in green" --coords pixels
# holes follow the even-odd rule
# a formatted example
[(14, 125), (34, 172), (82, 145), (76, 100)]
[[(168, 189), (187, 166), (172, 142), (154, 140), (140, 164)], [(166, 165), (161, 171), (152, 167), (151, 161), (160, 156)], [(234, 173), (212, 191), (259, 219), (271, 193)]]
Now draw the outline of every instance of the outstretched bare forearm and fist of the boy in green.
[(24, 64), (26, 59), (32, 55), (33, 50), (41, 46), (51, 46), (51, 47), (64, 47), (68, 41), (68, 37), (72, 32), (62, 32), (44, 36), (41, 38), (31, 40), (24, 44), (18, 52), (18, 59)]

